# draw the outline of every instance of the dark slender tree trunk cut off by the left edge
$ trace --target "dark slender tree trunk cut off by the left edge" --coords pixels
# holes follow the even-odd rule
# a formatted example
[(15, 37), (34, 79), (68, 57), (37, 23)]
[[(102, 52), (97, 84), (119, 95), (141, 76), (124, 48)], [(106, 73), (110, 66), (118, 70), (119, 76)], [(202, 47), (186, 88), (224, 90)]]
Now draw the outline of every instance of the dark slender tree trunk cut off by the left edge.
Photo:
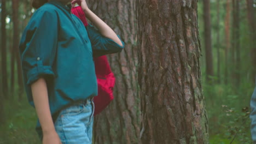
[(6, 18), (6, 5), (5, 0), (1, 3), (1, 89), (0, 92), (0, 126), (4, 122), (4, 98), (8, 98), (8, 82), (7, 82), (7, 46), (6, 46), (6, 29), (5, 29), (5, 18)]

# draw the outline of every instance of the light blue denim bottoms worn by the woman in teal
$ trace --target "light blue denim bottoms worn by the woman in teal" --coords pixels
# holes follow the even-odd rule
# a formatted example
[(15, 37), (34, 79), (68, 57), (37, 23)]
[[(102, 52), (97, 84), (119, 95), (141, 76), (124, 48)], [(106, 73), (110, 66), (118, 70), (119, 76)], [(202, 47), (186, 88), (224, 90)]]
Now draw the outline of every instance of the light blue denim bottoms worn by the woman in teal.
[(62, 144), (91, 144), (93, 123), (94, 101), (88, 98), (63, 109), (54, 125)]

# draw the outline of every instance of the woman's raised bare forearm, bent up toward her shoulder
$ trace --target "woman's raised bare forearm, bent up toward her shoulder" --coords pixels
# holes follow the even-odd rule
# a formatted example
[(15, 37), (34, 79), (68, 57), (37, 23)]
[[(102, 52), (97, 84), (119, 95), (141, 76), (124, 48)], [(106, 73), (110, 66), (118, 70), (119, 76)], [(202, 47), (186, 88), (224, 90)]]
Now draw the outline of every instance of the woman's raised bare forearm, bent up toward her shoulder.
[(84, 9), (84, 13), (86, 17), (94, 23), (94, 25), (98, 28), (98, 31), (100, 33), (109, 39), (112, 39), (115, 41), (115, 43), (119, 44), (120, 46), (123, 46), (121, 40), (118, 38), (117, 34), (113, 31), (112, 28), (110, 28), (104, 21), (100, 19), (96, 14), (94, 14), (89, 8)]

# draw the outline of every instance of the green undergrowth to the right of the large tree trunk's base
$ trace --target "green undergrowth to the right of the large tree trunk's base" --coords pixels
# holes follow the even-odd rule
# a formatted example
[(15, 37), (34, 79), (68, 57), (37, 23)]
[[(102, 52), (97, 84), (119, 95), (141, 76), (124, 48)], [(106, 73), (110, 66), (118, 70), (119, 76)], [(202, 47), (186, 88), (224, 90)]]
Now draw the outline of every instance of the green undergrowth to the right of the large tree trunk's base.
[(236, 91), (232, 85), (203, 84), (208, 112), (211, 143), (252, 143), (249, 101), (252, 83), (242, 83)]

